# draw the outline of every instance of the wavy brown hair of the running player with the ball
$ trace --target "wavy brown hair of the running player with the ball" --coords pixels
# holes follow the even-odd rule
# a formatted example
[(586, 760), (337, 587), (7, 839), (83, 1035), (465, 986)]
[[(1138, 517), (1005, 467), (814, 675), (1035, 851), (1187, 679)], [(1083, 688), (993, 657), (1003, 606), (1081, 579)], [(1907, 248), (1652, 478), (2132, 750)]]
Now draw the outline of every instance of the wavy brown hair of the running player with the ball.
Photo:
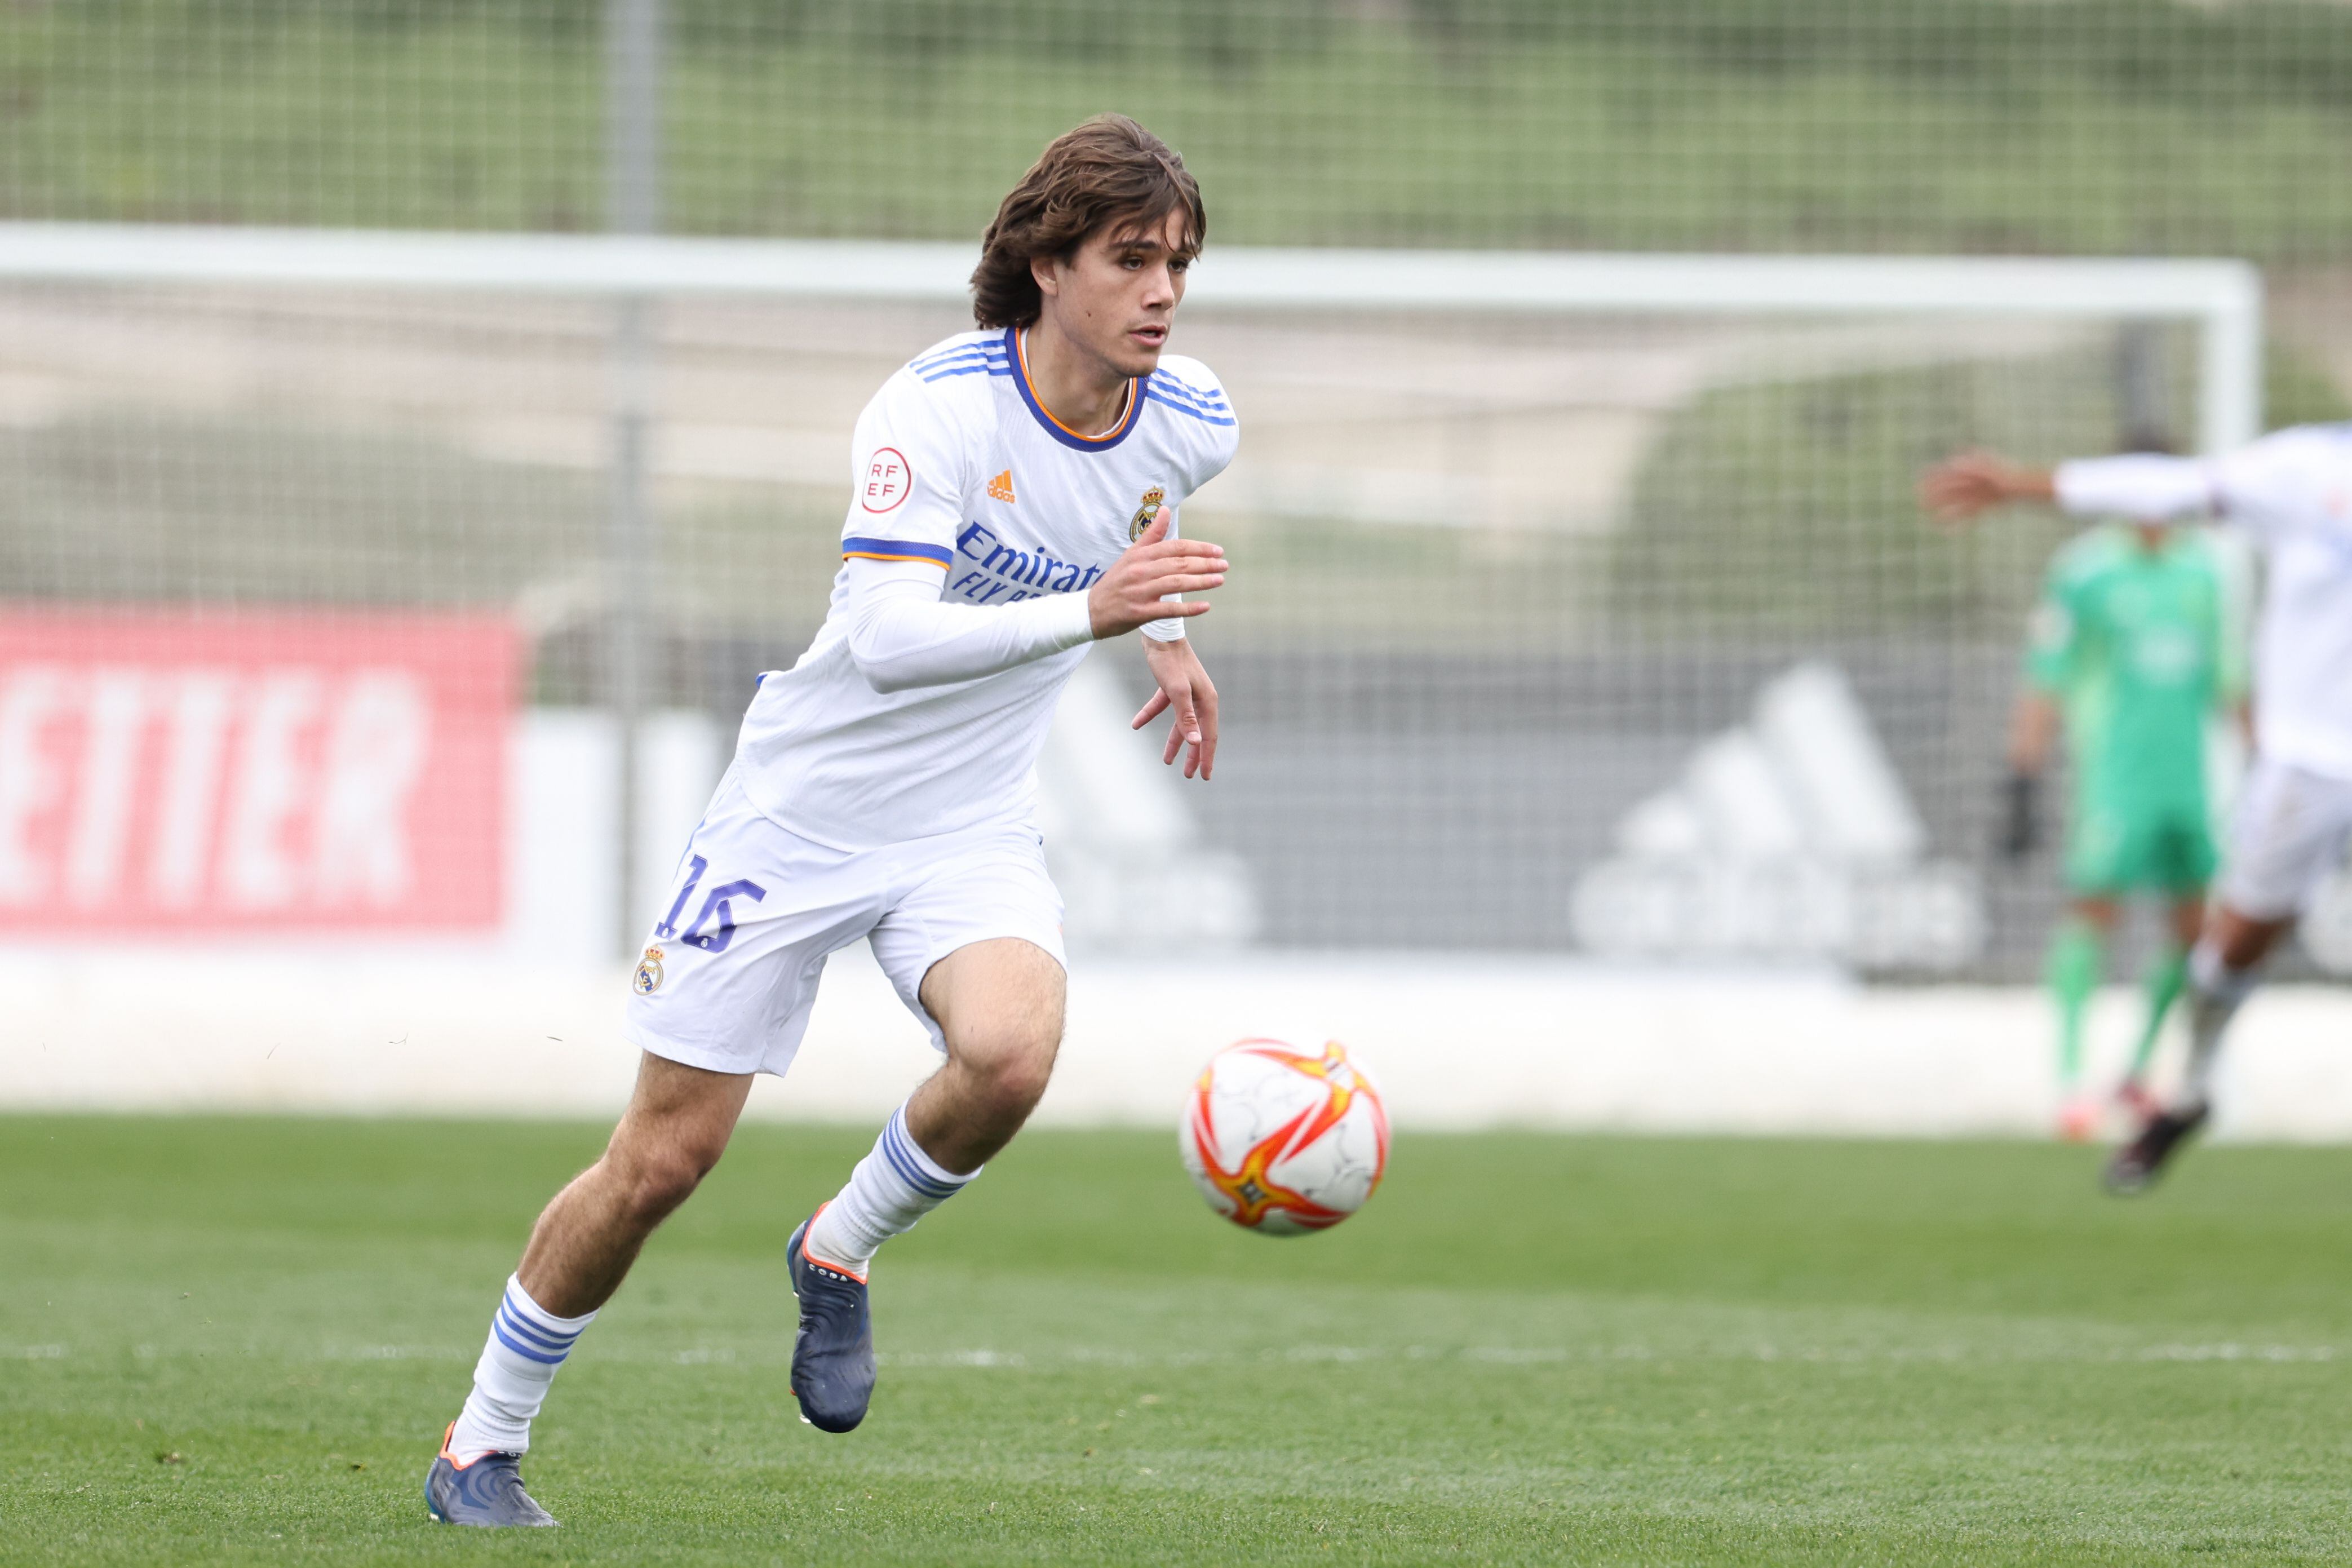
[(1200, 181), (1176, 150), (1127, 115), (1096, 115), (1056, 136), (1030, 165), (981, 237), (971, 270), (971, 320), (981, 327), (1028, 327), (1044, 301), (1030, 261), (1077, 256), (1105, 228), (1152, 233), (1171, 212), (1185, 214), (1183, 254), (1209, 237)]

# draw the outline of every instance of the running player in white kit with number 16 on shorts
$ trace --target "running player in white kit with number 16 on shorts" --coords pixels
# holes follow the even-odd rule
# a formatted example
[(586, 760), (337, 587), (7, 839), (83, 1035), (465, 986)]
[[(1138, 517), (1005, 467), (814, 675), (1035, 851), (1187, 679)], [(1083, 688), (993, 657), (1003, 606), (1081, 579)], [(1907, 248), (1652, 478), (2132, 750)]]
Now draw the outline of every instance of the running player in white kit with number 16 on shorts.
[(788, 1244), (793, 1394), (826, 1432), (875, 1382), (875, 1248), (955, 1197), (1044, 1093), (1061, 1044), (1061, 898), (1030, 766), (1087, 644), (1143, 632), (1174, 712), (1164, 762), (1216, 764), (1216, 689), (1178, 595), (1225, 581), (1176, 510), (1232, 458), (1235, 416), (1164, 355), (1207, 235), (1160, 139), (1103, 115), (1054, 141), (990, 223), (981, 331), (894, 374), (858, 418), (823, 628), (769, 672), (637, 966), (637, 1088), (506, 1281), (473, 1394), (426, 1476), (435, 1519), (555, 1523), (517, 1455), (647, 1234), (717, 1164), (755, 1072), (800, 1048), (826, 954), (866, 938), (946, 1065)]

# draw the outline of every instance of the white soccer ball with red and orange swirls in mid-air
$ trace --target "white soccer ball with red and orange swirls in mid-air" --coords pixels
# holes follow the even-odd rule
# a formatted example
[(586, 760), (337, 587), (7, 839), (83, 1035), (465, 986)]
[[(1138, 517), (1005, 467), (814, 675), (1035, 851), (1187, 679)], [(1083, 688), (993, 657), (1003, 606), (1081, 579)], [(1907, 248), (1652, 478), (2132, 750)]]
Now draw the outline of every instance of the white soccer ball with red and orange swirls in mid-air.
[(1209, 1058), (1176, 1145), (1209, 1208), (1261, 1237), (1303, 1237), (1381, 1185), (1388, 1110), (1338, 1041), (1312, 1056), (1244, 1039)]

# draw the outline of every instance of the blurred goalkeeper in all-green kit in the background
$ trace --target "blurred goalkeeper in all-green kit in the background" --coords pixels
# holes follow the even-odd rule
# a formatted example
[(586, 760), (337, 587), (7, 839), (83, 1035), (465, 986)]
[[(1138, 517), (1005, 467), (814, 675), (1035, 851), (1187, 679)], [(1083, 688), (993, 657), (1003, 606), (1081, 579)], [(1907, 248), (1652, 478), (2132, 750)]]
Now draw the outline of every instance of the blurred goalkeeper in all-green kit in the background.
[(2169, 900), (2166, 943), (2147, 973), (2147, 1018), (2117, 1098), (2145, 1114), (2143, 1084), (2164, 1013), (2180, 994), (2187, 950), (2213, 877), (2206, 722), (2241, 701), (2230, 595), (2201, 538), (2110, 524), (2051, 562), (2025, 656), (2027, 689), (2009, 738), (2006, 849), (2034, 842), (2034, 780), (2060, 722), (2074, 771), (2067, 818), (2067, 912), (2051, 938), (2058, 999), (2060, 1133), (2091, 1138), (2098, 1105), (2082, 1093), (2082, 1030), (2107, 940), (2129, 893)]

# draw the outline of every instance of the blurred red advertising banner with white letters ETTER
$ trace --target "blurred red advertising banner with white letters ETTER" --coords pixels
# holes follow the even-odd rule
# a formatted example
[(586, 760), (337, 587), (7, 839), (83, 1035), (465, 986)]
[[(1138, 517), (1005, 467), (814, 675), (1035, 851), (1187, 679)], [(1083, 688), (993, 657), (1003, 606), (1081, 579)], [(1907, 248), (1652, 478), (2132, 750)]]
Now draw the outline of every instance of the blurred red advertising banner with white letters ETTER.
[(482, 929), (515, 630), (0, 604), (0, 931)]

